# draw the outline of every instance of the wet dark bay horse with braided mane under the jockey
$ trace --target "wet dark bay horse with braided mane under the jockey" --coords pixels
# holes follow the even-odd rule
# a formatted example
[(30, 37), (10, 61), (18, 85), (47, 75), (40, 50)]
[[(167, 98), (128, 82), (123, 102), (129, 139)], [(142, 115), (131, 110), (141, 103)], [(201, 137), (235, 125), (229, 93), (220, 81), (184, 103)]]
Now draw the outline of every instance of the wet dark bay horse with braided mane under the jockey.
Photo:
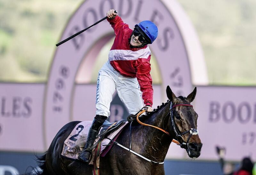
[[(163, 103), (154, 111), (140, 118), (140, 121), (162, 128), (165, 132), (153, 127), (132, 122), (131, 128), (124, 127), (116, 142), (150, 159), (147, 161), (128, 150), (114, 144), (105, 157), (100, 157), (100, 174), (102, 175), (162, 175), (164, 174), (164, 158), (172, 139), (180, 142), (181, 148), (186, 149), (188, 156), (197, 158), (202, 148), (197, 132), (197, 113), (190, 103), (196, 96), (196, 87), (188, 97), (176, 97), (167, 86), (167, 103)], [(63, 143), (73, 128), (80, 121), (72, 121), (63, 126), (54, 137), (48, 151), (39, 157), (38, 174), (80, 175), (92, 174), (92, 165), (62, 157)], [(131, 142), (130, 142), (131, 138)], [(155, 162), (155, 163), (154, 163)]]

